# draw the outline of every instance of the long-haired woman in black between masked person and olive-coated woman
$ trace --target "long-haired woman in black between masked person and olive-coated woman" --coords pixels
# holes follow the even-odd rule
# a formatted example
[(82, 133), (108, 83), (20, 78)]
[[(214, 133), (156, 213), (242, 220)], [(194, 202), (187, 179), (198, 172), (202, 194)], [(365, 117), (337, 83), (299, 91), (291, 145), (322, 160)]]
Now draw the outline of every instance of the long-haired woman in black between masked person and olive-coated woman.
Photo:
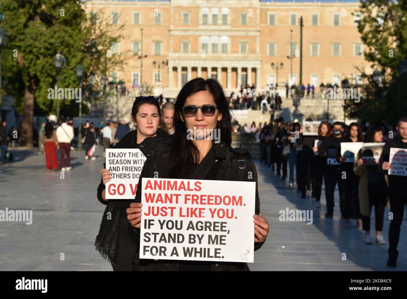
[[(360, 124), (357, 122), (352, 122), (348, 126), (348, 134), (344, 138), (343, 142), (363, 142), (363, 133), (362, 133), (362, 128), (360, 127)], [(355, 159), (356, 160), (356, 159)], [(361, 215), (359, 212), (359, 191), (358, 191), (358, 186), (359, 186), (359, 177), (355, 175), (353, 172), (353, 163), (352, 162), (345, 162), (343, 157), (341, 157), (341, 162), (342, 162), (342, 172), (346, 173), (346, 179), (343, 179), (343, 186), (344, 186), (344, 192), (345, 192), (345, 201), (344, 201), (344, 228), (348, 229), (350, 228), (350, 209), (351, 209), (351, 202), (353, 196), (355, 197), (355, 203), (356, 203), (356, 228), (361, 229), (362, 228), (362, 219)]]

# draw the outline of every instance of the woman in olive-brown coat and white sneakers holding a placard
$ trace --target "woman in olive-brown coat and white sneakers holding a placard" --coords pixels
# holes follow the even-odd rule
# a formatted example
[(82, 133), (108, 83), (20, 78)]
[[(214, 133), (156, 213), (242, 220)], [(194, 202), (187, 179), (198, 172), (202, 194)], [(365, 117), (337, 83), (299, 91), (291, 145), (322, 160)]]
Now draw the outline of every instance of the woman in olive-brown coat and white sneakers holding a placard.
[[(379, 127), (369, 127), (366, 132), (365, 142), (382, 142), (383, 133)], [(366, 153), (367, 152), (367, 153)], [(353, 171), (359, 179), (359, 203), (362, 215), (363, 230), (365, 231), (365, 244), (372, 244), (370, 238), (370, 214), (374, 206), (376, 243), (385, 245), (386, 241), (381, 235), (383, 230), (384, 207), (387, 202), (387, 182), (385, 175), (379, 172), (377, 165), (363, 165), (362, 157), (373, 156), (371, 150), (362, 149), (357, 154)]]

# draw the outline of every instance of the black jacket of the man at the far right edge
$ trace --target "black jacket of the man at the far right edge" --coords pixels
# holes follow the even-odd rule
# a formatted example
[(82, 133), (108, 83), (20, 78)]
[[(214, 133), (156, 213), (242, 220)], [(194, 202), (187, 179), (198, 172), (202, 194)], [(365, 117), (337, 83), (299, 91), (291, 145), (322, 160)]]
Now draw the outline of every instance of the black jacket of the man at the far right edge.
[[(400, 136), (395, 137), (393, 140), (388, 141), (383, 146), (383, 151), (380, 156), (379, 161), (379, 172), (383, 174), (387, 174), (387, 170), (382, 169), (383, 162), (389, 162), (390, 158), (390, 148), (405, 148), (407, 149), (407, 142), (403, 142)], [(407, 194), (407, 177), (401, 175), (388, 175), (389, 179), (389, 188), (387, 189), (387, 193), (390, 195), (396, 196), (403, 196), (405, 197)]]

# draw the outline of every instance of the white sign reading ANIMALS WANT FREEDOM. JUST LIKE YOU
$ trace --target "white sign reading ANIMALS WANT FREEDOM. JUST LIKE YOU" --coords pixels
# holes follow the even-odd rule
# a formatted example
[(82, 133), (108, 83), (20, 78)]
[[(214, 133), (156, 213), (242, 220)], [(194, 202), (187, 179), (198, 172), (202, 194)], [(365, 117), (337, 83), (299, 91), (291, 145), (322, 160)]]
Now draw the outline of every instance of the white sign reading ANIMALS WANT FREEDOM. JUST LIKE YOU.
[(250, 262), (256, 183), (142, 179), (140, 258)]

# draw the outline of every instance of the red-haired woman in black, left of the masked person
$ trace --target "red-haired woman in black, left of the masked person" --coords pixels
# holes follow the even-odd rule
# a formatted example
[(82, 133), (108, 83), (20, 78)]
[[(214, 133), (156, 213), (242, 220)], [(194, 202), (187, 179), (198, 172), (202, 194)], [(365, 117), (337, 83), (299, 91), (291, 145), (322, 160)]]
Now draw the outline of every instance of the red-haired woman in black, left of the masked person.
[(325, 164), (322, 158), (318, 155), (319, 146), (321, 146), (322, 141), (332, 134), (329, 122), (321, 122), (318, 127), (318, 137), (314, 140), (314, 146), (312, 148), (315, 156), (312, 159), (313, 174), (315, 178), (315, 207), (321, 207), (321, 190), (322, 190), (322, 179), (324, 177)]

